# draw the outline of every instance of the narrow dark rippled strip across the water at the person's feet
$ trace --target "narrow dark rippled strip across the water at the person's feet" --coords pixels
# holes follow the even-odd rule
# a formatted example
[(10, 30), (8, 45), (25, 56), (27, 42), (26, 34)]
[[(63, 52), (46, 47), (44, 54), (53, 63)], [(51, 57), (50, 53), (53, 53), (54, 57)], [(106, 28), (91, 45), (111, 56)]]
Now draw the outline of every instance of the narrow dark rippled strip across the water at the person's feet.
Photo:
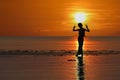
[[(65, 56), (75, 55), (76, 50), (0, 50), (0, 55), (53, 55), (53, 56)], [(113, 50), (94, 50), (84, 51), (84, 55), (116, 55), (120, 54), (120, 51)]]

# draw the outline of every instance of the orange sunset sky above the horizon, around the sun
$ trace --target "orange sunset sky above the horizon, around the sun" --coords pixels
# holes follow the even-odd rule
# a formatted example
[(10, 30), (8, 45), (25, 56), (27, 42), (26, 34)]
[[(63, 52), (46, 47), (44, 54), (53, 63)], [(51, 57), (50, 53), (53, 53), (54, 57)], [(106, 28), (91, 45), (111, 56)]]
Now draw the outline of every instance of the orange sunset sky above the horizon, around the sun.
[(119, 0), (0, 0), (0, 36), (71, 36), (75, 12), (88, 36), (120, 36)]

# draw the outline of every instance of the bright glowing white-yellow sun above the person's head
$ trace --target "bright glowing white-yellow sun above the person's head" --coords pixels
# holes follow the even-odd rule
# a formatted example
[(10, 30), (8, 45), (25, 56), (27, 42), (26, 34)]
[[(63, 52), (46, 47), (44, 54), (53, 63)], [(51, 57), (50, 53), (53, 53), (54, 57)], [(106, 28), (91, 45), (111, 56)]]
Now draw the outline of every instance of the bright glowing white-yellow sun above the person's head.
[(74, 18), (76, 22), (84, 22), (86, 20), (86, 13), (84, 12), (77, 12), (74, 14)]

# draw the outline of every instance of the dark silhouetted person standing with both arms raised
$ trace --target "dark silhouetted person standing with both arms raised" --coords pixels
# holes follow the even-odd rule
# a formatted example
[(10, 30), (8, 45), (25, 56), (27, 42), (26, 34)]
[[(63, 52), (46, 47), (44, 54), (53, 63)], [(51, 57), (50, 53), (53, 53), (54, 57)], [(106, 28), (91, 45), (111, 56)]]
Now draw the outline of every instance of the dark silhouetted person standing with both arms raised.
[(78, 23), (78, 27), (80, 29), (75, 29), (75, 26), (73, 27), (73, 31), (79, 31), (79, 36), (78, 36), (79, 47), (78, 47), (78, 52), (77, 52), (76, 56), (81, 55), (81, 57), (83, 58), (82, 47), (83, 47), (83, 41), (84, 41), (84, 37), (85, 37), (85, 31), (90, 32), (90, 30), (87, 25), (86, 25), (86, 29), (83, 28), (82, 23)]

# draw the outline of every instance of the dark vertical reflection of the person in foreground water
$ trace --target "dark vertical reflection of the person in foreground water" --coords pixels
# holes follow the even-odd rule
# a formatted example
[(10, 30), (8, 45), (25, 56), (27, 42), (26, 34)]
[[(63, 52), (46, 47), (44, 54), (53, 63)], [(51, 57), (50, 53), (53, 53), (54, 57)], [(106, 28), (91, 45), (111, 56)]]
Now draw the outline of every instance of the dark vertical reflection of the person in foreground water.
[(77, 65), (78, 65), (78, 80), (84, 80), (84, 65), (83, 59), (81, 57), (77, 57)]

